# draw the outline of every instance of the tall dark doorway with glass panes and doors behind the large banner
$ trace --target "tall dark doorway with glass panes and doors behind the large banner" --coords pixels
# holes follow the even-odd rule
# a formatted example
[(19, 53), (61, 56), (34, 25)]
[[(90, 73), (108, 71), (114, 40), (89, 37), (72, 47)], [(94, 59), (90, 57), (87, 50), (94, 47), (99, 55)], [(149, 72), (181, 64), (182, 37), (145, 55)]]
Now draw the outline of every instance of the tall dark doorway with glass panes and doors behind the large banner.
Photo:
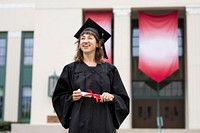
[[(185, 128), (184, 19), (178, 19), (179, 69), (160, 83), (138, 69), (138, 19), (132, 19), (132, 127)], [(157, 87), (159, 86), (159, 87)]]

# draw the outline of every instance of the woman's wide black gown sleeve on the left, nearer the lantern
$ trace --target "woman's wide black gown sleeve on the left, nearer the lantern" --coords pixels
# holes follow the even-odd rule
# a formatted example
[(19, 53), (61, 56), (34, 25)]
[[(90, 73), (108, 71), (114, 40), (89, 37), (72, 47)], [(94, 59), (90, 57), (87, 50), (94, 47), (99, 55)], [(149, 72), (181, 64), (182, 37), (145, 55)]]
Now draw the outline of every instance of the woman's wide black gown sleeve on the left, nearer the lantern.
[(72, 87), (70, 78), (70, 68), (65, 66), (55, 87), (52, 96), (54, 110), (64, 128), (69, 128), (72, 108)]

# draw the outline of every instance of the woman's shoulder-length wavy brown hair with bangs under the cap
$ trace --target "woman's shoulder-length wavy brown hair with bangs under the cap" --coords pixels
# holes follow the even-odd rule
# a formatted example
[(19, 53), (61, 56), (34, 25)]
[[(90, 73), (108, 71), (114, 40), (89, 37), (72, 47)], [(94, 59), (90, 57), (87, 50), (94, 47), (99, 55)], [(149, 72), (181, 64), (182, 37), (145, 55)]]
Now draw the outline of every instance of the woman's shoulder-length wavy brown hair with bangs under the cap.
[[(92, 31), (83, 31), (83, 33), (81, 33), (80, 36), (82, 36), (83, 34), (90, 34), (90, 35), (93, 35), (95, 37), (97, 44), (98, 44), (98, 47), (96, 48), (96, 52), (95, 52), (95, 61), (98, 64), (104, 63), (104, 60), (103, 60), (104, 53), (103, 53), (103, 50), (102, 50), (102, 47), (101, 47), (102, 44), (104, 43), (104, 39), (98, 39), (96, 34), (94, 34)], [(80, 37), (75, 44), (77, 44), (77, 50), (76, 50), (77, 52), (76, 52), (76, 55), (74, 57), (74, 60), (78, 61), (78, 62), (83, 61), (83, 59), (84, 59), (83, 51), (79, 47)]]

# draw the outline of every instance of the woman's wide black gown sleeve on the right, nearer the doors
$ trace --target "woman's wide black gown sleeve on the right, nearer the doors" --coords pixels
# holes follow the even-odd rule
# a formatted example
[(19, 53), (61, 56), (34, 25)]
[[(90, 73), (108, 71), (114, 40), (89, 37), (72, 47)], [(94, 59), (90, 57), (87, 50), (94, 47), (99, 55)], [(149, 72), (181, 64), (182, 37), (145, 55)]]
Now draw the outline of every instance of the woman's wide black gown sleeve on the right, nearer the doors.
[(116, 67), (111, 73), (111, 85), (111, 93), (115, 97), (111, 110), (113, 112), (115, 128), (119, 129), (120, 125), (129, 114), (129, 97)]

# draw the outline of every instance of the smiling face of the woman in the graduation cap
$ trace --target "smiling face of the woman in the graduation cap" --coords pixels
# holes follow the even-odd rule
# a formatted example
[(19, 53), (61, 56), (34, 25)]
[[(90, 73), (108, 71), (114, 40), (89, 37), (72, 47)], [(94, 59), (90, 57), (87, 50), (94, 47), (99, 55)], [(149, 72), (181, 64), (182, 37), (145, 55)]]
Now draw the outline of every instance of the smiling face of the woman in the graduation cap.
[(95, 55), (96, 48), (98, 47), (97, 40), (92, 34), (82, 34), (80, 36), (79, 48), (85, 55)]

